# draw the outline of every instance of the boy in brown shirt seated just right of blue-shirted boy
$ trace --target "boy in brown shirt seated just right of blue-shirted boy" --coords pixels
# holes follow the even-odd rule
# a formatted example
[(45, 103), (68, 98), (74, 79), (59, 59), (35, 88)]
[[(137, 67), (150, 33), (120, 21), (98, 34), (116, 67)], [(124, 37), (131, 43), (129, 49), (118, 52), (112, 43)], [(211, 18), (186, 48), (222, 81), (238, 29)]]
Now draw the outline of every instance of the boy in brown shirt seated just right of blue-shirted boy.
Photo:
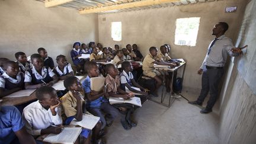
[[(107, 92), (108, 95), (111, 97), (119, 97), (127, 100), (129, 98), (134, 97), (132, 93), (125, 92), (120, 87), (120, 78), (119, 78), (119, 71), (113, 64), (107, 64), (105, 66), (105, 71), (108, 73), (105, 84), (107, 84)], [(131, 119), (131, 114), (135, 110), (135, 105), (133, 104), (113, 104), (114, 107), (118, 108), (121, 113), (121, 124), (124, 129), (129, 130), (132, 127), (137, 126)]]

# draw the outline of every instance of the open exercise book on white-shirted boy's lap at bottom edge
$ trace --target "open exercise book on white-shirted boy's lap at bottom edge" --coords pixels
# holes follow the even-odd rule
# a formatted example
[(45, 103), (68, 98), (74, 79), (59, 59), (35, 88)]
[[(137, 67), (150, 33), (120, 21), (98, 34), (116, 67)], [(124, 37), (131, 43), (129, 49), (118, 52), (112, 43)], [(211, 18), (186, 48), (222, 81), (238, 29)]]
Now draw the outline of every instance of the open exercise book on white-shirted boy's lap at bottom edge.
[(43, 142), (49, 143), (75, 143), (76, 139), (80, 135), (82, 127), (64, 127), (61, 133), (51, 133), (43, 139)]

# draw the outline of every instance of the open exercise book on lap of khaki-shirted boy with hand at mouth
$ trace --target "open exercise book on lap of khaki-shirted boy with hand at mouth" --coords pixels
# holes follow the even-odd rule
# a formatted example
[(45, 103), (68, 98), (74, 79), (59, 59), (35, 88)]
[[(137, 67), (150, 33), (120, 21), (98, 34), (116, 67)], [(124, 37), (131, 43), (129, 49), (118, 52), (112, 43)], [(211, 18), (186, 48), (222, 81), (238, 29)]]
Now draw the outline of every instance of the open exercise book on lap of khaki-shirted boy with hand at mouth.
[(73, 119), (70, 125), (81, 126), (81, 127), (84, 127), (85, 129), (92, 130), (99, 120), (100, 120), (100, 117), (96, 117), (91, 114), (83, 114), (81, 121), (77, 121), (76, 119)]

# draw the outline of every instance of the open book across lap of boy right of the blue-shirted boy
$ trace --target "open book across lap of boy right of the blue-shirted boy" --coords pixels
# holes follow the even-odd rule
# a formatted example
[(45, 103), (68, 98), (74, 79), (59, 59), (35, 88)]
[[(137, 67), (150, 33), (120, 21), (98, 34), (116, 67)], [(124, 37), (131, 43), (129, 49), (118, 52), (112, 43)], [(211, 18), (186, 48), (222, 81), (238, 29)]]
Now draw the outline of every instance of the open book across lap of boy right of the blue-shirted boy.
[(133, 105), (142, 107), (139, 97), (132, 97), (128, 100), (124, 100), (123, 98), (110, 97), (109, 102), (110, 102), (110, 104), (129, 103), (129, 104), (133, 104)]

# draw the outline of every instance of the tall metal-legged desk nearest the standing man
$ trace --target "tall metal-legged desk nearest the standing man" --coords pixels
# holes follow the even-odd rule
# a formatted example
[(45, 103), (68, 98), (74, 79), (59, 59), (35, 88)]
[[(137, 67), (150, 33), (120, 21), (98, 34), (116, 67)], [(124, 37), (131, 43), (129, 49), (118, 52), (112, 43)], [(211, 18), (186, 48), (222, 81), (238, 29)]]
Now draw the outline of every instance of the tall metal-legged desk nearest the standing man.
[[(183, 73), (182, 73), (182, 76), (181, 76), (182, 81), (183, 81), (183, 78), (184, 78), (186, 62), (183, 59), (179, 59), (179, 60), (181, 60), (182, 62), (180, 63), (179, 66), (176, 66), (175, 68), (155, 68), (158, 71), (164, 71), (164, 81), (165, 81), (165, 76), (166, 76), (165, 73), (166, 72), (172, 72), (171, 84), (169, 85), (169, 87), (171, 88), (171, 92), (172, 92), (172, 85), (173, 85), (173, 82), (174, 82), (174, 72), (177, 72), (179, 69), (183, 68)], [(182, 82), (181, 82), (181, 84), (182, 84)], [(169, 94), (169, 103), (164, 104), (164, 99), (165, 99), (165, 96), (166, 96), (166, 94), (164, 95), (164, 87), (165, 86), (164, 86), (164, 82), (163, 82), (161, 101), (160, 102), (155, 101), (155, 100), (152, 100), (152, 101), (154, 101), (155, 103), (164, 105), (166, 107), (171, 107), (171, 104), (174, 102), (175, 98), (171, 97), (171, 92), (170, 92), (170, 94)]]

